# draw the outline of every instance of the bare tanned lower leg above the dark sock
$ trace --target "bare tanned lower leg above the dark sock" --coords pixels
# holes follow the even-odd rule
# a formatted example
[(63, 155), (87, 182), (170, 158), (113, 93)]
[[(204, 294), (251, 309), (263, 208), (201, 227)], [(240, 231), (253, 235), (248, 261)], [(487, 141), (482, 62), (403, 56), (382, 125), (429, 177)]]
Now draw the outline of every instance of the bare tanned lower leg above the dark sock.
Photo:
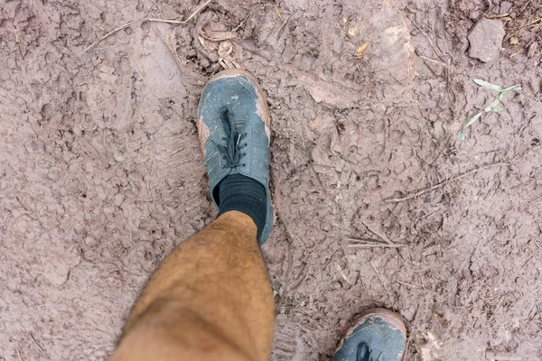
[(257, 227), (229, 211), (168, 255), (126, 322), (114, 361), (263, 361), (274, 301)]

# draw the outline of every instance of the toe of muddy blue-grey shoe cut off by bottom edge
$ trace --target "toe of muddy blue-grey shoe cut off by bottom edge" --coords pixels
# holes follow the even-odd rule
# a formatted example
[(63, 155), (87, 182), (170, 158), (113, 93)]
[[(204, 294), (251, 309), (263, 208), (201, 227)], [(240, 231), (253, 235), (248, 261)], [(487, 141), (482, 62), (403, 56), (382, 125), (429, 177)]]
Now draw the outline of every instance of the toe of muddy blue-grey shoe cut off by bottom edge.
[(332, 361), (400, 361), (405, 347), (406, 328), (401, 316), (373, 309), (355, 321)]

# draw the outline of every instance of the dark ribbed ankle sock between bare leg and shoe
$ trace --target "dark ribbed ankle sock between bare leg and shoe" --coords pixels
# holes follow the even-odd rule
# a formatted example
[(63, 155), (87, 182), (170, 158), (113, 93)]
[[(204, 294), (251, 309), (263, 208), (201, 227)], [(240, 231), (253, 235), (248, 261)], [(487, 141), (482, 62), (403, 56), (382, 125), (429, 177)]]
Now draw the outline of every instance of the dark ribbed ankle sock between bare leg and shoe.
[[(217, 190), (218, 189), (218, 190)], [(229, 210), (238, 210), (248, 215), (257, 226), (257, 239), (259, 240), (266, 226), (267, 199), (266, 189), (257, 180), (242, 174), (230, 174), (220, 180), (215, 189), (219, 197), (219, 216)]]

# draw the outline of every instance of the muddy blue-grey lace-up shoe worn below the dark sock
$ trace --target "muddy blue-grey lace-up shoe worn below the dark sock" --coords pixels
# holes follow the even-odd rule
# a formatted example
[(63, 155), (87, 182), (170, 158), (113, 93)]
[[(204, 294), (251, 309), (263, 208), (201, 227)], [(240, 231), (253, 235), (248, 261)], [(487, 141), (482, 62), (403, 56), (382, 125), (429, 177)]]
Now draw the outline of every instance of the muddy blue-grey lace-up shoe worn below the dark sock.
[(209, 80), (198, 108), (198, 133), (209, 175), (210, 196), (219, 207), (218, 185), (230, 174), (257, 180), (266, 189), (262, 245), (273, 228), (269, 192), (269, 112), (262, 88), (246, 70), (226, 69)]

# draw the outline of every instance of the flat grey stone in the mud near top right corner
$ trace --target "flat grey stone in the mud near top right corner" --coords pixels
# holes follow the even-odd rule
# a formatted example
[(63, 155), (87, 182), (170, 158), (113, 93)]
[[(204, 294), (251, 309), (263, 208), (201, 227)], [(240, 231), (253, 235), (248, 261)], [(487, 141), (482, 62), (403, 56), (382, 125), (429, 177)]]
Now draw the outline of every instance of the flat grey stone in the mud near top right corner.
[(500, 20), (481, 19), (468, 36), (471, 43), (469, 56), (483, 62), (497, 59), (504, 34), (504, 25)]

